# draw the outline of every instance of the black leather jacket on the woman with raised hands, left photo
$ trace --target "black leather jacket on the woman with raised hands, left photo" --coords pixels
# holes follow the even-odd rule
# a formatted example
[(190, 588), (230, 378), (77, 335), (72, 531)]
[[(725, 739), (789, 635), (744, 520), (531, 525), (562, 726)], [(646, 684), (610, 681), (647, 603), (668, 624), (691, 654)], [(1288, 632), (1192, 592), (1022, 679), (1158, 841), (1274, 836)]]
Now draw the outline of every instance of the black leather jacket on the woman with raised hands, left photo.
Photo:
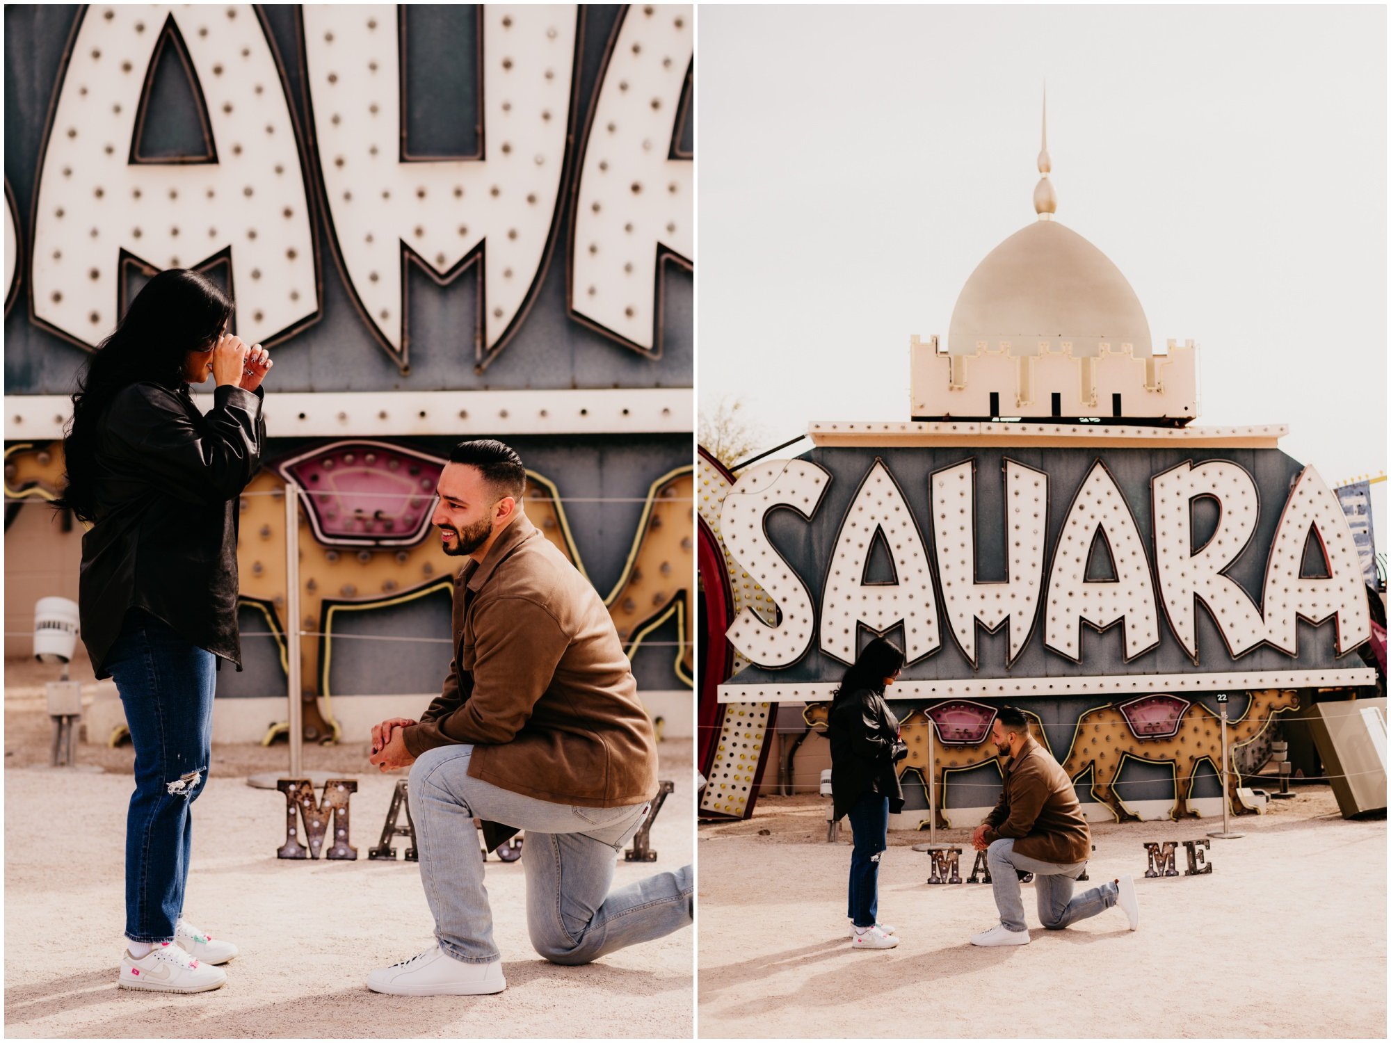
[(238, 496), (260, 469), (263, 392), (132, 384), (97, 420), (96, 523), (82, 537), (82, 641), (97, 677), (129, 608), (241, 669)]

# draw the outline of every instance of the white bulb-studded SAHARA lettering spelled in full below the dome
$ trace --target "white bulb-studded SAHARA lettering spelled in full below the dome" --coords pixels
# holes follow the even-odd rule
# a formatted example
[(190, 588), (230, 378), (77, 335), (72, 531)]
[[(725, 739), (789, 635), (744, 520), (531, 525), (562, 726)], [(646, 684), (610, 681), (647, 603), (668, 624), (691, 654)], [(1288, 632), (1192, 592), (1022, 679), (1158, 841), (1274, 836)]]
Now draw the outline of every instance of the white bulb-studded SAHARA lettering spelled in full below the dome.
[[(721, 531), (778, 612), (746, 608), (734, 619), (729, 640), (755, 669), (727, 687), (766, 681), (765, 670), (804, 658), (783, 676), (829, 681), (835, 663), (854, 661), (861, 627), (883, 634), (900, 624), (908, 668), (949, 631), (964, 662), (933, 662), (951, 677), (982, 669), (978, 624), (1007, 634), (996, 645), (1003, 662), (983, 663), (990, 676), (1017, 663), (1050, 676), (1178, 674), (1185, 658), (1232, 662), (1262, 648), (1284, 662), (1263, 651), (1244, 666), (1331, 665), (1369, 636), (1338, 499), (1313, 467), (1277, 449), (1228, 455), (1241, 463), (1168, 448), (840, 448), (755, 464), (729, 491)], [(1070, 495), (1066, 509), (1050, 506), (1059, 491)], [(1328, 619), (1334, 648), (1324, 629), (1301, 649), (1298, 622)], [(1121, 626), (1104, 668), (1082, 662), (1084, 623)]]

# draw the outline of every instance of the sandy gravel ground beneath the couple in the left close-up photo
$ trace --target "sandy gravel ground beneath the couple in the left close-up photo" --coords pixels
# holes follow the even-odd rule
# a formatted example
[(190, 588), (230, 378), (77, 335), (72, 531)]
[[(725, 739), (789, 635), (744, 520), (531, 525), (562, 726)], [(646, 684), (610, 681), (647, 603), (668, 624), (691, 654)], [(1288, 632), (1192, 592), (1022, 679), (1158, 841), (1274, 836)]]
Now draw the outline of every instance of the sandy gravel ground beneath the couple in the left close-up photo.
[[(694, 932), (556, 967), (531, 950), (522, 864), (488, 859), (487, 886), (506, 992), (406, 998), (367, 990), (367, 973), (433, 943), (415, 862), (373, 862), (395, 777), (366, 763), (363, 744), (309, 747), (310, 770), (351, 772), (356, 862), (289, 862), (284, 798), (245, 776), (287, 765), (284, 745), (214, 748), (195, 807), (189, 915), (238, 943), (225, 987), (195, 996), (115, 987), (121, 954), (129, 747), (79, 748), (106, 773), (50, 770), (40, 697), (6, 700), (7, 1036), (46, 1037), (690, 1037)], [(676, 782), (652, 829), (658, 861), (618, 864), (615, 883), (691, 859), (694, 794), (689, 741), (661, 747)], [(403, 775), (403, 773), (402, 773)], [(396, 841), (398, 852), (405, 841)]]

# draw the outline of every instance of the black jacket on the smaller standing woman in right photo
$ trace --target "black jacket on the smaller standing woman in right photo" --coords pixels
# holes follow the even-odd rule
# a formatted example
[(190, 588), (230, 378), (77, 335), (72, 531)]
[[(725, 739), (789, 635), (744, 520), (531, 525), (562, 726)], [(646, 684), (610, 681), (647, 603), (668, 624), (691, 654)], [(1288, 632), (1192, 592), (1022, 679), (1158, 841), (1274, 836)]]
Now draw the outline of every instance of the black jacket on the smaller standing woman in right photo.
[(903, 787), (894, 770), (899, 720), (883, 695), (861, 688), (840, 698), (826, 722), (830, 740), (830, 800), (839, 819), (865, 793), (889, 798), (889, 814), (903, 811)]

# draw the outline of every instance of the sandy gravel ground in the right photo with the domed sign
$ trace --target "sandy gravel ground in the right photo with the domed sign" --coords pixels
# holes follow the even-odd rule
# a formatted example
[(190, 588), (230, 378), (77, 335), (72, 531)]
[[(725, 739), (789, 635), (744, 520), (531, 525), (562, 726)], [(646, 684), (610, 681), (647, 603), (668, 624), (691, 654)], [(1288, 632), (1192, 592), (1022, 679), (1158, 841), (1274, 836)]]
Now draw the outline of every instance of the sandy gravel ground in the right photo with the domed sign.
[[(1045, 930), (1025, 884), (1032, 941), (1007, 948), (968, 941), (999, 922), (989, 886), (929, 886), (911, 850), (926, 834), (890, 833), (879, 919), (903, 941), (885, 951), (849, 948), (850, 847), (825, 843), (823, 800), (765, 797), (751, 820), (698, 830), (700, 1035), (1385, 1037), (1385, 819), (1299, 794), (1213, 840), (1209, 876), (1143, 879), (1142, 844), (1220, 819), (1093, 826), (1081, 886), (1132, 873), (1139, 930), (1118, 909)], [(939, 832), (970, 851), (967, 836)]]

